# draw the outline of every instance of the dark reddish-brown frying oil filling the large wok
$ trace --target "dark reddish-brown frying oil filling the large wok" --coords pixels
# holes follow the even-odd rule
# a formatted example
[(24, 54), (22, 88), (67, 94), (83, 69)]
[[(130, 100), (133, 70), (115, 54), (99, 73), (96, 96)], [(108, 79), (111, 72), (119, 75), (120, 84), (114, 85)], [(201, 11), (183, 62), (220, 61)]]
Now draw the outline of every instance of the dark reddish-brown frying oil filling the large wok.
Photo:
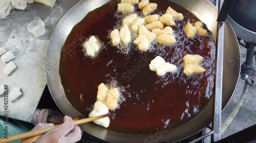
[[(113, 27), (118, 27), (116, 23), (120, 23), (122, 14), (116, 12), (117, 4), (111, 2), (90, 12), (74, 26), (62, 47), (61, 82), (68, 100), (83, 115), (88, 116), (92, 110), (100, 83), (116, 81), (117, 87), (124, 89), (125, 101), (111, 118), (109, 130), (112, 131), (143, 133), (155, 132), (164, 123), (173, 128), (180, 126), (206, 106), (214, 90), (215, 43), (211, 33), (208, 37), (186, 38), (184, 26), (187, 21), (194, 23), (199, 19), (176, 4), (151, 2), (158, 4), (154, 14), (163, 14), (170, 6), (185, 16), (184, 20), (176, 20), (173, 27), (175, 45), (154, 45), (153, 50), (140, 52), (131, 44), (129, 52), (120, 52), (111, 45), (109, 35)], [(84, 56), (81, 43), (93, 35), (104, 46), (96, 58), (91, 59)], [(186, 76), (182, 67), (186, 54), (203, 56), (201, 65), (206, 72)], [(148, 67), (157, 55), (178, 66), (179, 71), (157, 77)]]

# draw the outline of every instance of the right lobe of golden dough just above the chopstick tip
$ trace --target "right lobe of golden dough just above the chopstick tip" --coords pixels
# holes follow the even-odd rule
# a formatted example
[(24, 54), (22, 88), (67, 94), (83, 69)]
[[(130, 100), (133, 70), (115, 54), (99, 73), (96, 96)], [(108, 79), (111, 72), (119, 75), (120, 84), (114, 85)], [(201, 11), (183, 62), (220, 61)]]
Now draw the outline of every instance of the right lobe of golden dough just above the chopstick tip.
[(106, 106), (114, 110), (117, 107), (117, 99), (119, 98), (119, 91), (117, 88), (111, 89), (106, 93)]

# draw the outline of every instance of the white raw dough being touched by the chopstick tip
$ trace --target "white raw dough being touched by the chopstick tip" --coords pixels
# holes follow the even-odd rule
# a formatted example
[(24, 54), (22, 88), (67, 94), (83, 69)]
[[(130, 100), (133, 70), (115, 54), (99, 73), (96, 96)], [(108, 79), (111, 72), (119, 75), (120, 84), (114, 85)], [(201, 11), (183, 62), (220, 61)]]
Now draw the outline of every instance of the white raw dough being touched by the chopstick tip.
[[(106, 107), (105, 104), (101, 101), (96, 101), (94, 104), (93, 110), (89, 113), (89, 117), (96, 117), (96, 116), (101, 116), (109, 113), (109, 108)], [(108, 128), (110, 126), (110, 118), (105, 117), (102, 119), (98, 119), (93, 121), (95, 124), (98, 124), (100, 126), (103, 126), (105, 128)]]

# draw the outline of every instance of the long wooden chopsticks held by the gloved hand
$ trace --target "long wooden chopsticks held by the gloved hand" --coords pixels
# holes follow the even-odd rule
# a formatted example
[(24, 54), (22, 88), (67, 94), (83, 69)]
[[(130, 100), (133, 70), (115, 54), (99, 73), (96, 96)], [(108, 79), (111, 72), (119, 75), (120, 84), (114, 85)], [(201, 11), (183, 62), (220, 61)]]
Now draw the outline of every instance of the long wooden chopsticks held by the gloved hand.
[[(96, 117), (91, 117), (91, 118), (86, 118), (86, 119), (81, 119), (81, 120), (73, 119), (73, 123), (74, 123), (74, 125), (80, 125), (80, 124), (88, 123), (88, 122), (95, 121), (95, 120), (98, 120), (98, 119), (101, 119), (101, 118), (109, 117), (109, 116), (112, 116), (114, 114), (115, 113), (109, 113), (109, 114), (106, 114), (106, 115), (101, 115), (101, 116), (96, 116)], [(77, 120), (77, 121), (74, 121), (74, 120)], [(40, 129), (40, 130), (35, 130), (35, 131), (30, 131), (30, 132), (26, 132), (26, 133), (22, 133), (22, 134), (9, 136), (8, 139), (0, 138), (0, 142), (7, 143), (7, 142), (11, 142), (11, 141), (19, 140), (19, 139), (24, 139), (24, 138), (28, 138), (28, 139), (22, 141), (22, 143), (34, 142), (37, 138), (42, 136), (44, 133), (46, 133), (48, 131), (51, 131), (51, 130), (59, 127), (59, 126), (60, 125), (55, 125), (55, 126)]]

